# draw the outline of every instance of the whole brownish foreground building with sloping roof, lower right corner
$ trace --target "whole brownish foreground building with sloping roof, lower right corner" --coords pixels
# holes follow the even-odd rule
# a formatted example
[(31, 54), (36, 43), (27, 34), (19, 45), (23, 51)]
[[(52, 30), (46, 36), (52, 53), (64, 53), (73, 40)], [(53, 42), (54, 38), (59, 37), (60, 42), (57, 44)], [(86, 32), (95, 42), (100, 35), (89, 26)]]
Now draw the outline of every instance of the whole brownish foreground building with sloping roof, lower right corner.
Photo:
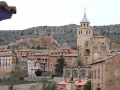
[(91, 64), (92, 90), (120, 89), (120, 54), (111, 55)]

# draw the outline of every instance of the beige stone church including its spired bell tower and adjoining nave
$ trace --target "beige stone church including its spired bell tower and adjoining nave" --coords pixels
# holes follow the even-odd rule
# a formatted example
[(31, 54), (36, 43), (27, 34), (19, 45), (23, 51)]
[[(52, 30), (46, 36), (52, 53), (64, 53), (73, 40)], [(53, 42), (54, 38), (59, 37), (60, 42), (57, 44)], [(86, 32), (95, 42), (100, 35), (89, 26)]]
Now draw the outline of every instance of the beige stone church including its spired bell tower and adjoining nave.
[(86, 13), (84, 13), (80, 27), (77, 29), (77, 50), (81, 65), (89, 65), (91, 62), (102, 59), (119, 49), (120, 45), (110, 38), (101, 35), (93, 36), (93, 28), (90, 26)]

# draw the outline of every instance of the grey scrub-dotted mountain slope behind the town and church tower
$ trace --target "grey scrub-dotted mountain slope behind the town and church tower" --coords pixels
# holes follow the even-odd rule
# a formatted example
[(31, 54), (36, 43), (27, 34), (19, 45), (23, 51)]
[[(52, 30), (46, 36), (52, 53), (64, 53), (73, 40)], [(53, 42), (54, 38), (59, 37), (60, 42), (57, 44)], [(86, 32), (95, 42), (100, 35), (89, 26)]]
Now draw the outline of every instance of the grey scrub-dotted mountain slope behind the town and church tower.
[[(79, 25), (70, 24), (65, 26), (38, 26), (25, 30), (0, 31), (0, 45), (7, 45), (10, 42), (25, 38), (37, 38), (53, 36), (60, 46), (67, 45), (76, 47), (76, 30)], [(94, 35), (104, 35), (120, 43), (120, 25), (93, 26)]]

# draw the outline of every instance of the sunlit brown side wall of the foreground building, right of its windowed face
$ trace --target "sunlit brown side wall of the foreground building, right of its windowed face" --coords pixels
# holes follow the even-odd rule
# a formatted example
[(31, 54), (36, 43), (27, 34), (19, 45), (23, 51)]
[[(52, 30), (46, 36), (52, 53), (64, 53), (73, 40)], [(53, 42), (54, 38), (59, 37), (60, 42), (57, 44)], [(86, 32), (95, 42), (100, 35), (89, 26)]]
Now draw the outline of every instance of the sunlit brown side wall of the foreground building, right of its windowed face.
[(120, 55), (106, 60), (104, 90), (120, 90)]

